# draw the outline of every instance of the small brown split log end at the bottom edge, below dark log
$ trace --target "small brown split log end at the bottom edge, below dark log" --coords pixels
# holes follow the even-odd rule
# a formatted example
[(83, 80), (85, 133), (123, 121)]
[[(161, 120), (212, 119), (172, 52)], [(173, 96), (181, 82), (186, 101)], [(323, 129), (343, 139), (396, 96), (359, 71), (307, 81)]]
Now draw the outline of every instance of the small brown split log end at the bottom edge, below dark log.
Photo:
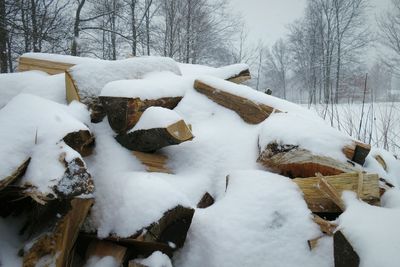
[(92, 240), (86, 251), (86, 261), (93, 256), (97, 256), (99, 258), (112, 256), (114, 257), (118, 265), (122, 266), (126, 257), (126, 252), (126, 247), (117, 245), (113, 242)]

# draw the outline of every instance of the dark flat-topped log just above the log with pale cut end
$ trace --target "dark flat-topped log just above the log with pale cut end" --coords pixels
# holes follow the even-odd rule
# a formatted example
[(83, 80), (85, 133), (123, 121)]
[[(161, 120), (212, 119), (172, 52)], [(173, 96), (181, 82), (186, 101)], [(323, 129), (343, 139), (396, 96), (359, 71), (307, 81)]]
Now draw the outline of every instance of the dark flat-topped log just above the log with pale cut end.
[(99, 98), (111, 128), (118, 134), (132, 129), (148, 107), (157, 106), (173, 109), (182, 99), (182, 97), (164, 97), (142, 100), (140, 98), (108, 96), (100, 96)]

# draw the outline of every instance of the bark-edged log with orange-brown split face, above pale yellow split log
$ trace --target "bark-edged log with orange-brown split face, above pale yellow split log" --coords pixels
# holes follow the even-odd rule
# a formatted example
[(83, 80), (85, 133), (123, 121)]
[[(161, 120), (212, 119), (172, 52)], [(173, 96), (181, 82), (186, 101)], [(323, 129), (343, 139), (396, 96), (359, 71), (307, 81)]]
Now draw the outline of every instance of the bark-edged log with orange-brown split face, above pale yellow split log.
[(281, 175), (313, 177), (316, 173), (336, 175), (356, 172), (357, 169), (330, 157), (314, 155), (312, 152), (294, 145), (279, 145), (272, 142), (266, 146), (257, 159), (258, 163)]

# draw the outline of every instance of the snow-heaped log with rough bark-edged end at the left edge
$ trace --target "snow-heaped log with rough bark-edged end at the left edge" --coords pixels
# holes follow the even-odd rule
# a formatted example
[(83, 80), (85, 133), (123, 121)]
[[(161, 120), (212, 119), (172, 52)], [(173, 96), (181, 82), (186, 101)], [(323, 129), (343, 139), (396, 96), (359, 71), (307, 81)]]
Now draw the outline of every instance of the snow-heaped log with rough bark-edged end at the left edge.
[[(93, 190), (80, 155), (63, 141), (71, 133), (89, 131), (68, 108), (20, 94), (0, 110), (0, 124), (4, 127), (0, 131), (1, 183), (9, 184), (7, 177), (22, 176), (25, 170), (16, 186), (25, 188), (25, 193), (38, 197), (38, 201)], [(70, 141), (70, 137), (66, 139)], [(23, 163), (28, 158), (29, 166), (25, 168)]]

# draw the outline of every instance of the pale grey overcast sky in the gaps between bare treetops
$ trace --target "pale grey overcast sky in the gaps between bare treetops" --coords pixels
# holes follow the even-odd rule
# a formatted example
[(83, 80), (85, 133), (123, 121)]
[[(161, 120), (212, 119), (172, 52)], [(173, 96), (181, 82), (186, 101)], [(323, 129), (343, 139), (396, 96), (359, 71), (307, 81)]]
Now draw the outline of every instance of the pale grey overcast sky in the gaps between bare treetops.
[[(288, 30), (286, 26), (304, 14), (306, 0), (229, 0), (234, 12), (241, 13), (251, 41), (262, 39), (271, 45)], [(375, 25), (376, 14), (389, 7), (390, 0), (370, 0), (369, 23)]]

